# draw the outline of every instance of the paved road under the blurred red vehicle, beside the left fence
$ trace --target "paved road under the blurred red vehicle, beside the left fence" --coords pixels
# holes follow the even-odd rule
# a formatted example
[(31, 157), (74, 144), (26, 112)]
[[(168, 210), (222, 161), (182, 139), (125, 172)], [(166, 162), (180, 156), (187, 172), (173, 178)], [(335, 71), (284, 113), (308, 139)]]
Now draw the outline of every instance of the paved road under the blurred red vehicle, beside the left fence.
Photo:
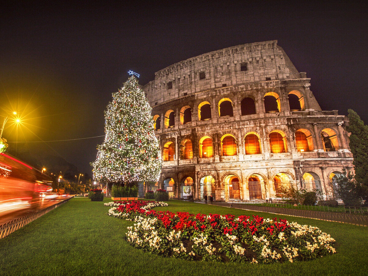
[(0, 225), (10, 222), (13, 219), (17, 219), (18, 217), (28, 215), (29, 213), (32, 213), (38, 210), (42, 210), (43, 208), (46, 208), (57, 202), (63, 201), (67, 198), (70, 198), (70, 196), (69, 197), (57, 197), (57, 198), (49, 199), (49, 200), (38, 199), (37, 201), (32, 202), (27, 208), (16, 210), (14, 212), (7, 213), (5, 215), (0, 216)]

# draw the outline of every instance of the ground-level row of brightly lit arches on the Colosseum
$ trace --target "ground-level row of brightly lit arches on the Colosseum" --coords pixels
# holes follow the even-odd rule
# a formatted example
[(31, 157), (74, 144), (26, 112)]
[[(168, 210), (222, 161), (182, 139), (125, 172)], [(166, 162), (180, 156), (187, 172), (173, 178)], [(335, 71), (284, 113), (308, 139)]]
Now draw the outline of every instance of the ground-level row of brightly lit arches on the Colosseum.
[[(329, 180), (334, 183), (334, 179), (337, 174), (342, 174), (340, 171), (333, 171), (329, 175)], [(282, 193), (280, 187), (291, 187), (293, 178), (287, 173), (279, 172), (275, 174), (272, 181), (272, 188), (266, 187), (267, 179), (261, 174), (251, 174), (245, 183), (239, 181), (239, 177), (236, 174), (228, 174), (223, 179), (223, 190), (220, 190), (219, 185), (214, 176), (208, 174), (201, 177), (197, 188), (191, 177), (184, 177), (180, 183), (175, 183), (173, 178), (166, 178), (163, 181), (163, 188), (169, 192), (170, 197), (178, 197), (181, 199), (191, 199), (198, 197), (203, 199), (205, 195), (212, 196), (215, 200), (244, 200), (244, 199), (267, 199), (267, 198), (280, 198)], [(335, 184), (336, 186), (336, 181)], [(156, 190), (158, 184), (152, 185), (150, 190)], [(320, 177), (313, 171), (305, 172), (301, 179), (301, 188), (307, 191), (322, 190), (322, 184)], [(198, 189), (198, 192), (196, 192)], [(269, 193), (266, 195), (266, 190)], [(245, 196), (244, 191), (247, 191)]]

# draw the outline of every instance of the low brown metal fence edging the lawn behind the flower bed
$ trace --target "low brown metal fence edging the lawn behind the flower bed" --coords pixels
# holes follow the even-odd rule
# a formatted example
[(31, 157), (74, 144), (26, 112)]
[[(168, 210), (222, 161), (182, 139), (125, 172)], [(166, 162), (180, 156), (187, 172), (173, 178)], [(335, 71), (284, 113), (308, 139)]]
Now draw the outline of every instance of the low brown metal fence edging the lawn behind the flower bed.
[(296, 217), (307, 217), (310, 219), (320, 219), (332, 222), (343, 222), (357, 224), (361, 226), (368, 226), (368, 216), (356, 215), (354, 213), (343, 213), (343, 212), (323, 212), (316, 210), (303, 210), (303, 209), (289, 209), (280, 208), (273, 206), (257, 206), (244, 203), (231, 203), (231, 202), (213, 202), (213, 205), (243, 209), (248, 211), (258, 211), (272, 213), (276, 215), (287, 215)]

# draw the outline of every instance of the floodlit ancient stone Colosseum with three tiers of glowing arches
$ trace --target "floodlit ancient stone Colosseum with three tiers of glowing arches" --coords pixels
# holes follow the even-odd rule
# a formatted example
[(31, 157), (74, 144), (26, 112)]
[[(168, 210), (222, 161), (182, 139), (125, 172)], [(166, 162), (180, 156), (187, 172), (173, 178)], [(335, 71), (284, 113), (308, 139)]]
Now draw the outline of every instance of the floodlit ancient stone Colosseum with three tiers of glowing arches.
[(171, 197), (217, 201), (280, 198), (281, 186), (332, 193), (353, 169), (347, 118), (322, 111), (277, 40), (180, 61), (143, 86)]

